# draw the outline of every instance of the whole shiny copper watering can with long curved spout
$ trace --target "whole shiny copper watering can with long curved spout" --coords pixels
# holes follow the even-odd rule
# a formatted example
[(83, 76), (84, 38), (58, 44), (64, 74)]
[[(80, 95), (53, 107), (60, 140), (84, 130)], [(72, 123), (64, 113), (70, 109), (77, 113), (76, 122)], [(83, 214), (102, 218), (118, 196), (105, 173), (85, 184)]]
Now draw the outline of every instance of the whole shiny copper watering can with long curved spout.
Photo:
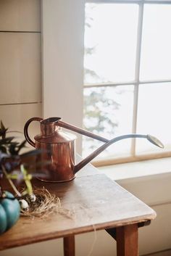
[[(150, 141), (152, 144), (163, 148), (162, 142), (154, 136), (142, 134), (127, 134), (118, 136), (114, 139), (108, 140), (101, 136), (95, 135), (91, 132), (75, 127), (68, 123), (62, 122), (60, 117), (50, 117), (43, 119), (40, 117), (33, 117), (25, 123), (24, 133), (25, 139), (28, 143), (36, 149), (41, 149), (42, 162), (48, 162), (43, 166), (43, 172), (48, 173), (46, 178), (40, 178), (41, 181), (49, 182), (64, 182), (71, 181), (75, 178), (75, 173), (88, 164), (94, 157), (100, 154), (104, 149), (114, 142), (128, 138), (143, 138)], [(38, 121), (41, 124), (41, 134), (34, 137), (35, 142), (30, 139), (28, 135), (28, 126), (31, 122)], [(75, 139), (77, 138), (72, 133), (62, 131), (62, 128), (67, 128), (71, 131), (78, 132), (82, 135), (105, 142), (99, 149), (96, 149), (84, 160), (75, 165)]]

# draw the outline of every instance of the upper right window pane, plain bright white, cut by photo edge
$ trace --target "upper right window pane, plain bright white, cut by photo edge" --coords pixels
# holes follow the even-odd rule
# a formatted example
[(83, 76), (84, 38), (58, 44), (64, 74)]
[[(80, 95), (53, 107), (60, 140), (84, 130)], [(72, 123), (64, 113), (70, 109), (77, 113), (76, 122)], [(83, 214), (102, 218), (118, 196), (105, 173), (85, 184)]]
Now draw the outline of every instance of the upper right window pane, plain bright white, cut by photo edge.
[(145, 4), (141, 80), (171, 78), (171, 5)]

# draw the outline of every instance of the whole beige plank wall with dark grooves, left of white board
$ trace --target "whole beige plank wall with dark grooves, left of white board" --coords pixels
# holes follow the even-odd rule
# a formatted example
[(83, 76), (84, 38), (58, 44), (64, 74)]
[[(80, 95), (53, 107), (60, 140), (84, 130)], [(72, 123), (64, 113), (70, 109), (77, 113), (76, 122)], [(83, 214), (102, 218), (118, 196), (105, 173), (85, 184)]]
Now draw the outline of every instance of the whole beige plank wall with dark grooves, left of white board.
[(0, 120), (10, 130), (42, 115), (40, 0), (0, 0), (0, 88)]

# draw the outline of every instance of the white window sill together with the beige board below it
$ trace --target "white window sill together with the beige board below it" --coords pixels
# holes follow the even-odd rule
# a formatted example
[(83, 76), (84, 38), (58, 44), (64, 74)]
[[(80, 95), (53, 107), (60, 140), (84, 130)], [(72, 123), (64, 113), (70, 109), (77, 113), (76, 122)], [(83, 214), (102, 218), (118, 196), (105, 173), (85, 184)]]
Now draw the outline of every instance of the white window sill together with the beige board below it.
[(171, 157), (98, 169), (151, 207), (171, 202)]

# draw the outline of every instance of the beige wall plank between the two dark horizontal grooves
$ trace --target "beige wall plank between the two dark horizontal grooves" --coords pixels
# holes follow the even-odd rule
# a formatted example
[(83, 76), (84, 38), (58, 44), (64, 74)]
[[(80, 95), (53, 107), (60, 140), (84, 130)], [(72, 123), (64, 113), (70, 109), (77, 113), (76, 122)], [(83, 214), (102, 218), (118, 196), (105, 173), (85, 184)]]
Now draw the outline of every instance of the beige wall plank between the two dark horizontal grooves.
[(0, 104), (41, 101), (40, 33), (0, 33)]

